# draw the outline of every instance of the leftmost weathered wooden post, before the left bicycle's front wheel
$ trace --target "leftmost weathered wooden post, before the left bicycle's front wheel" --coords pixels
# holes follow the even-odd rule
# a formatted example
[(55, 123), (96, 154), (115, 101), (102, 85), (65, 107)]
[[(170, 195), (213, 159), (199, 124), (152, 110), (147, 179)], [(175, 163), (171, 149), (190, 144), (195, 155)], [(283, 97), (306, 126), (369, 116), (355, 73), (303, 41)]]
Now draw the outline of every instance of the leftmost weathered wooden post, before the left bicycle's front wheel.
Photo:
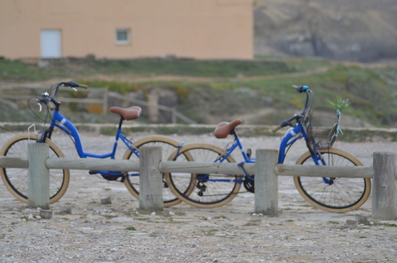
[(29, 143), (27, 146), (29, 207), (50, 209), (50, 170), (45, 165), (49, 155), (47, 143)]

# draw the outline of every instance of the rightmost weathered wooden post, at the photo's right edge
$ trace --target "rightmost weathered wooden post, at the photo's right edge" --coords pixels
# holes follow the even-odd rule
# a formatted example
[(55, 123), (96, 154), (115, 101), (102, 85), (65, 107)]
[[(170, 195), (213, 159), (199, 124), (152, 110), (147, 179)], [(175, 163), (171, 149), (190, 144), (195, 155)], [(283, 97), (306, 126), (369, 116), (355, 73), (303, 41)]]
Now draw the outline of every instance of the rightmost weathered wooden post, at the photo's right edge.
[(372, 178), (372, 217), (394, 220), (397, 214), (396, 153), (374, 153)]

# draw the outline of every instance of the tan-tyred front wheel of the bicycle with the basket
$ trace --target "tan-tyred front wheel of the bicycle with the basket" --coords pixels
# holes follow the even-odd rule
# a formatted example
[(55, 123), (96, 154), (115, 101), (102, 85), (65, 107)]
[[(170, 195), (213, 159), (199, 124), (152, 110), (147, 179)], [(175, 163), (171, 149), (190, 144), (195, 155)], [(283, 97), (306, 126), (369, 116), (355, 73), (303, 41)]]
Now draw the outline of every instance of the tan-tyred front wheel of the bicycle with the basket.
[[(331, 148), (320, 150), (327, 165), (360, 166), (362, 163), (349, 153)], [(303, 154), (296, 164), (316, 165), (310, 153)], [(297, 190), (314, 207), (328, 212), (344, 213), (360, 207), (371, 192), (369, 178), (294, 177)]]

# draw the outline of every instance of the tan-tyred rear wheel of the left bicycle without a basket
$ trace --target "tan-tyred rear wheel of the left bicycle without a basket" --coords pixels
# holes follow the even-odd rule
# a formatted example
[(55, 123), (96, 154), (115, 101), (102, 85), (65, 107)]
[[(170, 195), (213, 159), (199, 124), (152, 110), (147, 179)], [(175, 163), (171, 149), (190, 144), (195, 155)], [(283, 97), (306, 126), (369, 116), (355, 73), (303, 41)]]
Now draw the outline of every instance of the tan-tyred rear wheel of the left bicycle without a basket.
[[(139, 149), (142, 146), (159, 146), (162, 147), (162, 160), (167, 160), (168, 157), (172, 154), (175, 149), (177, 149), (179, 143), (170, 139), (168, 137), (163, 136), (151, 136), (143, 138), (136, 143), (134, 146)], [(191, 159), (189, 156), (186, 157), (187, 159)], [(131, 150), (127, 150), (125, 152), (123, 159), (129, 159), (132, 161), (139, 161), (139, 157), (135, 155)], [(134, 174), (134, 175), (131, 175)], [(129, 176), (125, 178), (124, 184), (127, 187), (128, 191), (137, 199), (139, 199), (139, 173), (129, 173)], [(187, 185), (187, 188), (189, 185)], [(163, 175), (163, 200), (164, 200), (164, 207), (170, 207), (176, 204), (181, 203), (179, 200), (170, 190), (168, 184), (164, 180)]]

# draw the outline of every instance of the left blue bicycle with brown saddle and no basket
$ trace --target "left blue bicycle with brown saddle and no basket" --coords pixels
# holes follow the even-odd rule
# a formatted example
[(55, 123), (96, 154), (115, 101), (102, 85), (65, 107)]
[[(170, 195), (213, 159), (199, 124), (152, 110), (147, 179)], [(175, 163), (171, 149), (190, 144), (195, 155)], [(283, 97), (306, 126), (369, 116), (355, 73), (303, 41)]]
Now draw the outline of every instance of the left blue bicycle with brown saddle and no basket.
[[(29, 140), (37, 141), (37, 142), (45, 142), (48, 143), (50, 147), (50, 157), (64, 157), (62, 151), (54, 144), (52, 139), (52, 132), (55, 127), (60, 128), (64, 131), (69, 137), (72, 139), (75, 148), (77, 150), (77, 154), (81, 158), (111, 158), (114, 159), (116, 156), (116, 150), (118, 148), (119, 139), (124, 143), (127, 147), (127, 151), (124, 154), (123, 159), (129, 160), (139, 160), (139, 147), (145, 146), (160, 146), (162, 147), (162, 158), (167, 159), (168, 156), (171, 155), (175, 149), (179, 149), (182, 147), (183, 143), (177, 143), (176, 141), (162, 136), (152, 136), (146, 137), (139, 141), (133, 141), (133, 139), (127, 139), (126, 135), (123, 134), (123, 130), (121, 128), (124, 120), (134, 120), (139, 118), (142, 110), (138, 106), (133, 106), (130, 108), (119, 108), (119, 107), (111, 107), (110, 112), (116, 113), (120, 115), (118, 129), (116, 131), (116, 138), (114, 141), (114, 145), (112, 147), (112, 151), (106, 154), (95, 154), (95, 153), (87, 153), (83, 150), (83, 145), (81, 142), (81, 138), (79, 132), (76, 127), (65, 118), (60, 113), (61, 103), (56, 101), (56, 95), (58, 93), (58, 89), (63, 87), (71, 87), (75, 89), (77, 87), (87, 89), (86, 85), (82, 85), (73, 81), (69, 82), (61, 82), (57, 85), (51, 87), (48, 92), (41, 93), (38, 97), (35, 97), (37, 104), (40, 106), (41, 104), (45, 104), (48, 112), (47, 116), (50, 116), (51, 123), (50, 127), (46, 129), (40, 136), (35, 134), (21, 134), (15, 137), (12, 137), (8, 140), (2, 150), (0, 151), (0, 155), (6, 155), (10, 157), (27, 157), (27, 143)], [(54, 92), (54, 95), (50, 95)], [(55, 107), (54, 107), (55, 106)], [(51, 112), (53, 111), (53, 114)], [(37, 116), (37, 115), (36, 115)], [(44, 120), (45, 121), (45, 120)], [(190, 155), (185, 155), (185, 157), (191, 160)], [(120, 182), (124, 182), (127, 189), (134, 195), (136, 198), (139, 197), (139, 173), (129, 173), (123, 171), (104, 171), (104, 170), (91, 170), (90, 174), (98, 174), (102, 176), (106, 180), (119, 180)], [(3, 168), (0, 169), (0, 175), (7, 189), (15, 196), (17, 199), (27, 203), (27, 169), (20, 168)], [(66, 192), (67, 186), (69, 185), (70, 172), (68, 169), (54, 169), (50, 170), (50, 203), (53, 203), (60, 199), (64, 193)], [(182, 184), (180, 184), (181, 186)], [(190, 183), (187, 183), (186, 190), (189, 188)], [(188, 193), (185, 191), (185, 193)], [(169, 190), (167, 184), (164, 181), (163, 187), (163, 199), (164, 206), (172, 206), (180, 203), (181, 201), (172, 194)]]

